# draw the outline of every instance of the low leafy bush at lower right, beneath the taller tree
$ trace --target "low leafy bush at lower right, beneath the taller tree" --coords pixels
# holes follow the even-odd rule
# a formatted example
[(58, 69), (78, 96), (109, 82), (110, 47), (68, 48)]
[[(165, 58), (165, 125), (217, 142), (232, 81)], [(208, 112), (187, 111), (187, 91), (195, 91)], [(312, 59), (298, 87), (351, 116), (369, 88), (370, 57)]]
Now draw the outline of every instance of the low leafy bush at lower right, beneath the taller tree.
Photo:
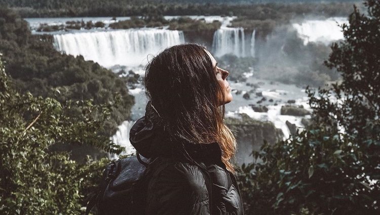
[(297, 214), (302, 208), (312, 214), (373, 214), (379, 193), (363, 170), (372, 146), (355, 141), (321, 128), (264, 144), (253, 154), (262, 162), (243, 165), (239, 175), (248, 214)]

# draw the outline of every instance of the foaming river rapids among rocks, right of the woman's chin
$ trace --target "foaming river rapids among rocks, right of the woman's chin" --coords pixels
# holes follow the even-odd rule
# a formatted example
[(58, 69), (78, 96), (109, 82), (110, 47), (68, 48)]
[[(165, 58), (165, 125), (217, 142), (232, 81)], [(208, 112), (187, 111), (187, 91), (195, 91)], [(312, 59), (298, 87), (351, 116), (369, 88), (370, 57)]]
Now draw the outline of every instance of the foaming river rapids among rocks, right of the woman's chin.
[[(284, 139), (289, 138), (290, 130), (286, 125), (286, 121), (295, 124), (297, 127), (304, 127), (301, 123), (302, 118), (310, 118), (307, 116), (290, 116), (281, 115), (281, 106), (289, 105), (288, 100), (295, 100), (296, 106), (302, 105), (305, 109), (311, 111), (308, 104), (308, 97), (306, 96), (305, 89), (297, 87), (294, 84), (284, 84), (280, 82), (273, 82), (268, 80), (263, 80), (255, 77), (254, 75), (248, 75), (247, 73), (247, 83), (256, 83), (258, 88), (256, 92), (261, 92), (262, 97), (258, 97), (255, 93), (250, 93), (250, 99), (244, 99), (243, 95), (246, 92), (252, 90), (251, 87), (247, 86), (245, 82), (230, 82), (233, 93), (233, 101), (225, 106), (227, 117), (238, 117), (240, 113), (245, 113), (253, 119), (260, 121), (271, 121), (276, 128), (280, 128), (284, 134)], [(251, 73), (252, 74), (252, 73)], [(236, 90), (241, 90), (242, 93), (236, 95)], [(257, 104), (257, 101), (265, 97), (267, 100), (261, 104)], [(269, 102), (272, 99), (273, 102)], [(275, 103), (277, 105), (275, 105)], [(268, 112), (255, 112), (249, 105), (263, 105), (268, 108)]]

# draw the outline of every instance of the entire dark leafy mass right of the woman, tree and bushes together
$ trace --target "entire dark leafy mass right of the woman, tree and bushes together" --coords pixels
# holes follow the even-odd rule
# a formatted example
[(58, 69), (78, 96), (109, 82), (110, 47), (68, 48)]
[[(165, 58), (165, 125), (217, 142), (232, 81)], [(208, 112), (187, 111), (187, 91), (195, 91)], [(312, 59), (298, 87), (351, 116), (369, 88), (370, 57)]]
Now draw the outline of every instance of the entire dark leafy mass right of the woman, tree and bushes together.
[[(380, 3), (355, 8), (329, 60), (341, 81), (308, 90), (315, 122), (254, 152), (239, 181), (248, 214), (379, 214)], [(248, 199), (248, 201), (247, 201)]]

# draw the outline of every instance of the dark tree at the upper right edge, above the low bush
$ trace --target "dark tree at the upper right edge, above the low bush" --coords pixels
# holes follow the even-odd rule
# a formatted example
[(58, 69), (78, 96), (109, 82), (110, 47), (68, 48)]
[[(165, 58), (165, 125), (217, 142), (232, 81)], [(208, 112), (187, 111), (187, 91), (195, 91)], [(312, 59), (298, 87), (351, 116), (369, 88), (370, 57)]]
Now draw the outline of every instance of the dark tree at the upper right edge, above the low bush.
[[(367, 133), (367, 126), (380, 117), (380, 3), (366, 1), (365, 4), (368, 16), (355, 8), (349, 17), (350, 25), (342, 26), (345, 41), (331, 47), (332, 53), (325, 62), (337, 69), (343, 81), (320, 91), (321, 99), (311, 100), (324, 121), (336, 121), (347, 133), (364, 139), (378, 138)], [(331, 97), (342, 102), (329, 100)]]

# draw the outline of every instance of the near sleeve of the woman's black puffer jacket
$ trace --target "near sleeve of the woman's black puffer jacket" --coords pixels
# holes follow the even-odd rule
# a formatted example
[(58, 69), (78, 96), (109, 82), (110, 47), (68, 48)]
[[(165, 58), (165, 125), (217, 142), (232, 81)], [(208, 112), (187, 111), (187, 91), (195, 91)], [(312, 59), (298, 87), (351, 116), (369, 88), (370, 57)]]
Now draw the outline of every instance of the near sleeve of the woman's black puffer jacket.
[(150, 180), (146, 214), (210, 213), (209, 194), (198, 166), (173, 163)]

